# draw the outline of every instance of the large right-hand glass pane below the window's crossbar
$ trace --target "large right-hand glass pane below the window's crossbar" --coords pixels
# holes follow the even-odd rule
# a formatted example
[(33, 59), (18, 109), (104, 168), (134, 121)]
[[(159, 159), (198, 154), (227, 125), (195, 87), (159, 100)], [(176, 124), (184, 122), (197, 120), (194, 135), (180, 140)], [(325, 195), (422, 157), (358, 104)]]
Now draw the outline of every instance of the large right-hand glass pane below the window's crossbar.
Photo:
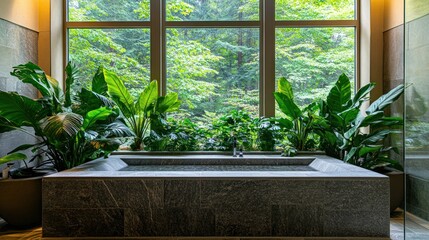
[(342, 73), (354, 85), (354, 28), (276, 29), (276, 84), (288, 79), (299, 106), (325, 99)]

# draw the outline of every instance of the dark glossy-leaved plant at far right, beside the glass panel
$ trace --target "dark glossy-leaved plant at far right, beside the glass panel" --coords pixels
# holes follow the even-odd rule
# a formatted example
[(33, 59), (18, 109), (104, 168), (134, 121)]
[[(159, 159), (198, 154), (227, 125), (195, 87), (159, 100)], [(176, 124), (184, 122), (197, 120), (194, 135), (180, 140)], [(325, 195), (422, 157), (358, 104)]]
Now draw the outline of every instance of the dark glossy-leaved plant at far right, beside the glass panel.
[[(385, 146), (385, 139), (403, 124), (400, 117), (385, 116), (384, 109), (397, 100), (404, 91), (401, 84), (374, 101), (363, 113), (361, 107), (369, 100), (375, 84), (363, 86), (352, 97), (349, 78), (342, 74), (321, 102), (320, 115), (326, 121), (319, 122), (318, 134), (322, 146), (330, 156), (368, 169), (392, 166), (401, 169), (390, 158), (397, 149)], [(369, 127), (369, 129), (368, 129)]]

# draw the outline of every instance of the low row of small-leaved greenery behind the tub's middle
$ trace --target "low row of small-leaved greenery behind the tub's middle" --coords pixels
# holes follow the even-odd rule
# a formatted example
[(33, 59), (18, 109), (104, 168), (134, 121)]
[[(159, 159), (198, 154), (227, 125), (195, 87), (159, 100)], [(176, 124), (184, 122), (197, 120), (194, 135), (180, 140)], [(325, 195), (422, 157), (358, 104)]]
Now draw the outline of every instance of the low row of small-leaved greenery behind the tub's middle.
[(145, 149), (150, 151), (273, 151), (280, 127), (274, 119), (253, 118), (244, 111), (233, 110), (214, 119), (212, 124), (198, 126), (190, 119), (156, 119)]

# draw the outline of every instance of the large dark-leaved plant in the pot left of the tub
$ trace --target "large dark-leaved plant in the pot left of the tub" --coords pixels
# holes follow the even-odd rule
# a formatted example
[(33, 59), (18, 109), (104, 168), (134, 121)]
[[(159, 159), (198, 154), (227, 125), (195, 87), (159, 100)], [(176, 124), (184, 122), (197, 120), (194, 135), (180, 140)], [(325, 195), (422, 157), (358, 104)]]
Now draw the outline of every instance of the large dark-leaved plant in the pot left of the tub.
[[(99, 89), (82, 89), (80, 98), (72, 101), (69, 89), (78, 77), (72, 64), (66, 67), (65, 94), (55, 79), (33, 63), (14, 67), (11, 75), (33, 85), (41, 97), (33, 100), (0, 91), (0, 132), (17, 130), (38, 139), (37, 143), (23, 144), (10, 153), (31, 149), (35, 153), (31, 160), (46, 156), (45, 162), (53, 163), (61, 171), (107, 156), (119, 147), (115, 137), (128, 134), (116, 121), (118, 109), (97, 93)], [(93, 81), (97, 79), (96, 75)]]

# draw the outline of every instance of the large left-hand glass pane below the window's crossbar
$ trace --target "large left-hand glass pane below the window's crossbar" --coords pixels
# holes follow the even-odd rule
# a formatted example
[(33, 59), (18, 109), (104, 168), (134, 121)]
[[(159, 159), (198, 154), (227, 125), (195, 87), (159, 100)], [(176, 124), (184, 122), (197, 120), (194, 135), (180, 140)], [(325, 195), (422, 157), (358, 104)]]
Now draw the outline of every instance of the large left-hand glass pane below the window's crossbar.
[(132, 93), (149, 83), (150, 32), (148, 29), (70, 29), (69, 59), (80, 70), (74, 92), (90, 87), (100, 65), (114, 71)]

